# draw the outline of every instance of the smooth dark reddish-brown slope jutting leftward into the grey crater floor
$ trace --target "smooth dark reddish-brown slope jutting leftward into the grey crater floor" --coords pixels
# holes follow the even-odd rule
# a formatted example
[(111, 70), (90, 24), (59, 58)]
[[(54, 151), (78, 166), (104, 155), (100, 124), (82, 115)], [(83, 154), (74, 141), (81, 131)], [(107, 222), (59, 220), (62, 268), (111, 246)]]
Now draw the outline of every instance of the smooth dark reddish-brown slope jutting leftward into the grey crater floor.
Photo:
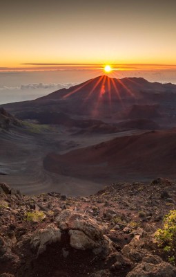
[(46, 170), (107, 183), (168, 176), (175, 179), (176, 129), (124, 136), (63, 155), (48, 154)]

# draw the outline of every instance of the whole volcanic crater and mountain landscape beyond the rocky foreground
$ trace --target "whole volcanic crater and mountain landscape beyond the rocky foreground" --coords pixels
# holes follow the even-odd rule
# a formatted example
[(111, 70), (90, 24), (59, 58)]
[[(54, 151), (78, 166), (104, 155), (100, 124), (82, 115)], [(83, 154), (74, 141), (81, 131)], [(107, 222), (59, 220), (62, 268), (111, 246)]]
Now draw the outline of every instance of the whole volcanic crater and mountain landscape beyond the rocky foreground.
[(0, 181), (87, 195), (115, 181), (175, 179), (175, 93), (174, 84), (102, 75), (4, 105)]

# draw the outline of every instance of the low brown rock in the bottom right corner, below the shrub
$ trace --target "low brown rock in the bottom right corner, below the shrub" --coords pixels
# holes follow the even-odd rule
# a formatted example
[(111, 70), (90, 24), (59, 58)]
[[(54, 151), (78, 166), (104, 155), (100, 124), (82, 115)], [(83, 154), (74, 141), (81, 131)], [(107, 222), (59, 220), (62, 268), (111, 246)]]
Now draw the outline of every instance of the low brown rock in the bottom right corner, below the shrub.
[(157, 265), (148, 262), (141, 262), (130, 271), (126, 277), (175, 277), (176, 267), (168, 264), (168, 262), (161, 262)]

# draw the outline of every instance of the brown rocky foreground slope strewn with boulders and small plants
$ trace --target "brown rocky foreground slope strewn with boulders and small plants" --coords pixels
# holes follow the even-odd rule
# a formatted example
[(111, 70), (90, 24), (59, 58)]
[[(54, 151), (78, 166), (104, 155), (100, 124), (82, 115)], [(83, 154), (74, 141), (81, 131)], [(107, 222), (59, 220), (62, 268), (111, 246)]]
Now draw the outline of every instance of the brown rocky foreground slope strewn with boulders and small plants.
[(153, 233), (176, 184), (112, 184), (88, 197), (21, 195), (0, 184), (1, 277), (174, 277)]

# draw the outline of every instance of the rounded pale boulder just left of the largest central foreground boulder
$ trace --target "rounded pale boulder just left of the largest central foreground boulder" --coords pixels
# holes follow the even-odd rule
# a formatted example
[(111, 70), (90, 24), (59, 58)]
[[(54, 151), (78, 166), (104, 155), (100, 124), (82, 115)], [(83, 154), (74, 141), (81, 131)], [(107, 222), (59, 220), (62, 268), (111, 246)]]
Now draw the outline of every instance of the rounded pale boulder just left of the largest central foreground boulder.
[(37, 256), (46, 251), (46, 246), (61, 240), (61, 232), (55, 224), (48, 225), (45, 229), (37, 230), (30, 240), (30, 247), (37, 251)]

